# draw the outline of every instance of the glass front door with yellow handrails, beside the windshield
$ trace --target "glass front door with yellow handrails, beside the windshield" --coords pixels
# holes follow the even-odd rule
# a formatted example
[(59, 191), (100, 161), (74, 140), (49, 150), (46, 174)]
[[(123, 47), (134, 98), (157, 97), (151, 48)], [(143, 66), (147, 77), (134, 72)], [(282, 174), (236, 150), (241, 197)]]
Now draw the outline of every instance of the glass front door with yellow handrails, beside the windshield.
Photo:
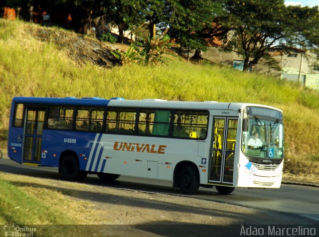
[(238, 118), (214, 117), (209, 182), (233, 184)]

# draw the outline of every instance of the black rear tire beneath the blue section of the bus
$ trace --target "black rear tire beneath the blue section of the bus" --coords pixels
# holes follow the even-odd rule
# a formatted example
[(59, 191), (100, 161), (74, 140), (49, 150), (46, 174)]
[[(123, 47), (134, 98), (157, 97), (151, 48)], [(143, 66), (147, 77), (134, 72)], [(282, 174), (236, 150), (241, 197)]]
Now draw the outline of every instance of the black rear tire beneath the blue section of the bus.
[(62, 159), (61, 173), (68, 181), (81, 181), (87, 176), (86, 171), (79, 169), (79, 162), (73, 155), (67, 155)]

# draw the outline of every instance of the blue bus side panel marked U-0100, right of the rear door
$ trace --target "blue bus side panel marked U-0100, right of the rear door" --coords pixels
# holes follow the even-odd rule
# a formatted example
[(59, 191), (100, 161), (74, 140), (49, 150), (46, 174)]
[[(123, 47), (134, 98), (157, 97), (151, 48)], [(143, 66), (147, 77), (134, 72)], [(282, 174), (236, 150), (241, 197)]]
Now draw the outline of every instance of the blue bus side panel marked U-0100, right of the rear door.
[(85, 170), (90, 150), (99, 133), (43, 130), (41, 165), (59, 167), (62, 152), (75, 152), (80, 170)]

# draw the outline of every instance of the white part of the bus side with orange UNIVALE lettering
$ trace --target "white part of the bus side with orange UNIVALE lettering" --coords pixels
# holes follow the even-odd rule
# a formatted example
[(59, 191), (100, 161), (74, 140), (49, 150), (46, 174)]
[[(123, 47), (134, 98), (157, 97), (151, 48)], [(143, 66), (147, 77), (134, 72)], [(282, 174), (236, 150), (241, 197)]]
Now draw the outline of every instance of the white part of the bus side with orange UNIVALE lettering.
[[(199, 144), (203, 142), (196, 140), (116, 134), (103, 134), (98, 139), (92, 149), (101, 156), (89, 157), (87, 171), (172, 180), (178, 162), (190, 161), (202, 166), (209, 154), (199, 152)], [(207, 183), (207, 173), (199, 172), (201, 180)]]

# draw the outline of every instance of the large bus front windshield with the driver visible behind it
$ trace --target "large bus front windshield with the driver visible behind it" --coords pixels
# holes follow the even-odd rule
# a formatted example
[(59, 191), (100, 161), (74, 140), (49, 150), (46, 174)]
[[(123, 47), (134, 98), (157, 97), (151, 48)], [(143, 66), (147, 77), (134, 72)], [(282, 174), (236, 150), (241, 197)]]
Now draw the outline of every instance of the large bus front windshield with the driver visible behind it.
[(282, 159), (284, 128), (281, 118), (267, 118), (248, 114), (244, 119), (242, 150), (248, 159), (258, 162), (259, 158)]

